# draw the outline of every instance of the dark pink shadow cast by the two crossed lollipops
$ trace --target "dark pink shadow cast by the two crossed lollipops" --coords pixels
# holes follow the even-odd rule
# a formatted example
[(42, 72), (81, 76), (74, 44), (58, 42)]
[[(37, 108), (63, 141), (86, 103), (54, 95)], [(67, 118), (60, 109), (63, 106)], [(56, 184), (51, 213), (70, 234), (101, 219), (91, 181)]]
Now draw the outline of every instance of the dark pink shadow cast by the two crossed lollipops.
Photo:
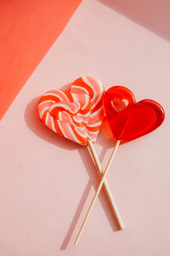
[[(70, 85), (71, 84), (67, 84), (67, 85), (63, 86), (62, 89), (69, 90)], [(78, 204), (77, 210), (75, 211), (75, 214), (71, 221), (70, 227), (67, 231), (65, 239), (60, 248), (60, 250), (65, 250), (68, 245), (68, 242), (72, 236), (74, 228), (78, 222), (78, 219), (79, 219), (82, 209), (84, 207), (85, 201), (89, 195), (90, 189), (92, 186), (94, 186), (95, 190), (97, 189), (98, 184), (100, 182), (100, 178), (97, 173), (95, 163), (90, 156), (89, 149), (87, 146), (81, 146), (81, 145), (75, 144), (75, 143), (59, 136), (58, 134), (51, 131), (45, 125), (42, 124), (42, 122), (39, 119), (38, 113), (37, 113), (37, 105), (38, 105), (39, 99), (40, 99), (40, 97), (37, 97), (37, 98), (31, 100), (28, 103), (28, 105), (26, 106), (26, 110), (24, 113), (24, 119), (25, 119), (25, 122), (26, 122), (28, 128), (36, 136), (47, 141), (48, 143), (51, 143), (55, 146), (64, 148), (66, 150), (78, 150), (79, 155), (82, 158), (82, 162), (83, 162), (83, 164), (87, 170), (87, 173), (89, 175), (89, 181), (87, 182), (87, 185), (84, 189), (84, 192), (83, 192), (80, 202)], [(110, 140), (104, 139), (102, 132), (100, 132), (98, 139), (97, 139), (97, 144), (100, 144), (103, 146), (103, 150), (99, 156), (100, 161), (102, 161), (105, 156), (105, 153), (107, 152), (108, 147), (114, 147), (115, 143), (114, 143), (113, 138), (111, 138)], [(102, 208), (105, 212), (105, 215), (106, 215), (108, 222), (111, 225), (113, 231), (114, 232), (118, 231), (119, 228), (118, 228), (117, 222), (115, 220), (114, 214), (112, 212), (111, 206), (109, 205), (107, 196), (106, 196), (103, 188), (101, 189), (101, 192), (100, 192), (98, 198), (99, 198), (99, 201), (102, 205)]]

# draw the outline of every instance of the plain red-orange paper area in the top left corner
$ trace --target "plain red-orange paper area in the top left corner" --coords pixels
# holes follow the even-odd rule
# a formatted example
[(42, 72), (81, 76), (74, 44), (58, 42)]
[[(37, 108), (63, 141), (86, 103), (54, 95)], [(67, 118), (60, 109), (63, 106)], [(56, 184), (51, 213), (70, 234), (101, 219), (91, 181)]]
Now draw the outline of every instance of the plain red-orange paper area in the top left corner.
[(81, 0), (6, 0), (0, 6), (0, 119)]

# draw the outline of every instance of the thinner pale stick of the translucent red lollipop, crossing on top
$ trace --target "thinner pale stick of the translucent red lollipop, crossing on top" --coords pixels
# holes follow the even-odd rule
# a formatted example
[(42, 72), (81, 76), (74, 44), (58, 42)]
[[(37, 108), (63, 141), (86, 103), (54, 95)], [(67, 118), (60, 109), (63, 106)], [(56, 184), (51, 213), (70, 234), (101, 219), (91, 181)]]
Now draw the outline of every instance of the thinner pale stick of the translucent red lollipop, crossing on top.
[(103, 175), (102, 175), (102, 177), (101, 177), (101, 181), (100, 181), (100, 183), (99, 183), (99, 185), (98, 185), (98, 188), (97, 188), (97, 190), (96, 190), (95, 196), (94, 196), (94, 198), (93, 198), (93, 200), (92, 200), (92, 202), (91, 202), (91, 204), (90, 204), (90, 207), (89, 207), (88, 212), (87, 212), (87, 214), (86, 214), (86, 217), (85, 217), (85, 219), (84, 219), (84, 221), (83, 221), (83, 224), (82, 224), (82, 226), (81, 226), (81, 229), (80, 229), (80, 231), (79, 231), (79, 233), (78, 233), (78, 236), (77, 236), (77, 238), (76, 238), (76, 240), (75, 240), (75, 242), (74, 242), (74, 244), (76, 244), (76, 245), (78, 244), (78, 242), (79, 242), (79, 240), (80, 240), (80, 237), (81, 237), (81, 235), (82, 235), (82, 233), (83, 233), (84, 227), (85, 227), (85, 225), (86, 225), (86, 223), (87, 223), (87, 220), (88, 220), (88, 218), (89, 218), (89, 216), (90, 216), (90, 213), (91, 213), (91, 211), (92, 211), (92, 208), (94, 207), (94, 204), (95, 204), (95, 202), (96, 202), (96, 199), (97, 199), (97, 197), (98, 197), (98, 195), (99, 195), (99, 192), (100, 192), (101, 187), (102, 187), (102, 185), (103, 185), (103, 183), (104, 183), (104, 180), (105, 180), (105, 177), (106, 177), (106, 175), (107, 175), (107, 172), (108, 172), (108, 170), (109, 170), (109, 167), (111, 166), (111, 163), (112, 163), (112, 161), (113, 161), (113, 158), (114, 158), (114, 156), (115, 156), (115, 154), (116, 154), (116, 151), (117, 151), (117, 148), (118, 148), (118, 146), (119, 146), (119, 143), (120, 143), (120, 140), (117, 140), (117, 141), (116, 141), (116, 145), (115, 145), (115, 147), (114, 147), (114, 150), (113, 150), (113, 152), (112, 152), (112, 155), (111, 155), (111, 157), (110, 157), (110, 159), (109, 159), (109, 161), (108, 161), (108, 163), (107, 163), (106, 169), (105, 169), (105, 171), (104, 171), (104, 173), (103, 173)]

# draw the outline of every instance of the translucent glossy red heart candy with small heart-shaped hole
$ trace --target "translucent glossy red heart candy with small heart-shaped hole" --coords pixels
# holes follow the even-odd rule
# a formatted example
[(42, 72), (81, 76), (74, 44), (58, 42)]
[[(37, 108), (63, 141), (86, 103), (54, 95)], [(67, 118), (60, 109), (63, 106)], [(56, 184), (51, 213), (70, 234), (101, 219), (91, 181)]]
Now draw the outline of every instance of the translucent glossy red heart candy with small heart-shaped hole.
[[(124, 109), (120, 110), (122, 101)], [(119, 104), (121, 103), (121, 104)], [(123, 86), (109, 88), (104, 96), (107, 122), (116, 140), (128, 142), (159, 127), (165, 117), (162, 106), (153, 100), (135, 101), (133, 93)]]

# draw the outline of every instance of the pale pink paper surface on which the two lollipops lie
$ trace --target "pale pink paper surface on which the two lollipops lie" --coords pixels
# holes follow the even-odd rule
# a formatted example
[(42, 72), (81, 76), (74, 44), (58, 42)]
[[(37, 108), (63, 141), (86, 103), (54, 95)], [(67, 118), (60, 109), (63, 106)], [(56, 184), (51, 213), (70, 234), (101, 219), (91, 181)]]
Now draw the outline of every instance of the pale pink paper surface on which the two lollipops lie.
[[(0, 255), (170, 255), (170, 4), (142, 3), (84, 0), (3, 117)], [(108, 172), (125, 229), (118, 231), (101, 191), (75, 246), (99, 177), (88, 148), (43, 126), (36, 106), (40, 95), (82, 75), (158, 101), (166, 118), (121, 145)], [(95, 148), (103, 169), (113, 146), (101, 131)]]

